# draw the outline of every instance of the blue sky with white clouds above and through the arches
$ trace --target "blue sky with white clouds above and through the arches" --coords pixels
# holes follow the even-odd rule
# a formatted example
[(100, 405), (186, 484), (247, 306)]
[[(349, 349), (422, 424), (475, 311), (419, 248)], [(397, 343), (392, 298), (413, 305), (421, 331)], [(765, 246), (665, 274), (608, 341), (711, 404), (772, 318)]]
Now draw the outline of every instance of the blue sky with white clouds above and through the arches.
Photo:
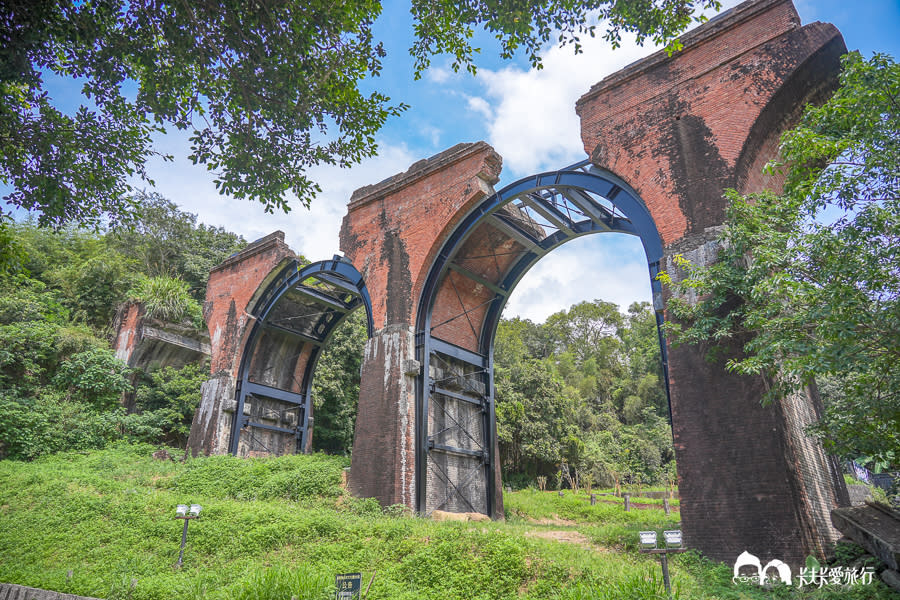
[[(723, 4), (727, 8), (737, 2)], [(804, 24), (835, 24), (851, 50), (900, 58), (900, 0), (795, 0), (795, 6)], [(534, 71), (523, 57), (499, 60), (492, 40), (482, 36), (476, 77), (453, 73), (447, 59), (436, 57), (425, 76), (414, 81), (407, 53), (412, 44), (408, 10), (405, 2), (385, 3), (375, 31), (388, 56), (381, 77), (373, 84), (411, 108), (382, 130), (378, 157), (349, 170), (312, 171), (323, 192), (311, 209), (295, 203), (288, 215), (268, 215), (259, 204), (220, 196), (213, 176), (186, 160), (187, 135), (179, 134), (158, 140), (161, 149), (176, 160), (151, 163), (156, 191), (198, 214), (202, 222), (224, 226), (248, 240), (281, 229), (291, 247), (307, 258), (329, 258), (338, 251), (340, 221), (354, 189), (405, 171), (413, 162), (459, 142), (485, 140), (503, 156), (497, 189), (585, 158), (575, 100), (593, 83), (656, 50), (629, 40), (612, 50), (598, 38), (588, 40), (585, 52), (578, 56), (571, 48), (547, 48), (545, 68)], [(53, 93), (63, 101), (77, 99), (76, 87), (61, 87)], [(625, 309), (649, 297), (646, 261), (637, 240), (621, 234), (595, 235), (542, 259), (512, 295), (505, 315), (542, 321), (581, 300), (609, 300)]]

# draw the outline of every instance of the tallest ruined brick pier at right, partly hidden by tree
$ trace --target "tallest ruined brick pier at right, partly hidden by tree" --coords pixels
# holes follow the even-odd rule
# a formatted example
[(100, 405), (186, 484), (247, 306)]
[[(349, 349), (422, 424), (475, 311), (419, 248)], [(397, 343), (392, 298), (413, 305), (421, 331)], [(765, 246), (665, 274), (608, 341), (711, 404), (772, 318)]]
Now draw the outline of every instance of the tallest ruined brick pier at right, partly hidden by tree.
[[(595, 85), (579, 101), (591, 161), (646, 202), (672, 257), (709, 260), (725, 188), (779, 189), (761, 167), (806, 102), (829, 94), (845, 51), (829, 24), (801, 26), (787, 0), (744, 3)], [(675, 273), (677, 277), (677, 273)], [(673, 428), (689, 546), (723, 561), (748, 550), (800, 564), (836, 532), (827, 511), (842, 482), (802, 432), (812, 398), (762, 406), (765, 382), (710, 363), (707, 348), (669, 349)]]

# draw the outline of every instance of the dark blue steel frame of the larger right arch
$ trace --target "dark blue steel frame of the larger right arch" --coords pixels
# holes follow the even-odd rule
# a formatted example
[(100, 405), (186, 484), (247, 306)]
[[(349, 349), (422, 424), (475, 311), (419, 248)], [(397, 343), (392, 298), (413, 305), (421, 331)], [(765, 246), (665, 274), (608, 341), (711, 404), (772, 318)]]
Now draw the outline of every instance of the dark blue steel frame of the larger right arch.
[[(586, 192), (586, 193), (585, 193)], [(550, 194), (548, 197), (547, 194)], [(581, 221), (572, 220), (556, 209), (552, 198), (561, 195), (571, 204), (576, 205), (587, 218)], [(598, 196), (612, 205), (612, 209), (592, 199)], [(529, 239), (525, 232), (516, 231), (514, 224), (498, 214), (504, 206), (516, 199), (543, 215), (558, 226), (558, 230), (542, 240)], [(444, 340), (433, 337), (432, 311), (434, 310), (440, 284), (453, 263), (456, 253), (469, 236), (488, 219), (492, 225), (500, 221), (501, 227), (508, 228), (510, 234), (518, 236), (524, 243), (527, 252), (510, 268), (499, 284), (490, 285), (495, 292), (488, 305), (478, 340), (478, 352), (459, 348)], [(505, 222), (505, 225), (504, 223)], [(521, 278), (545, 254), (576, 237), (600, 232), (622, 232), (640, 238), (647, 257), (647, 266), (653, 292), (653, 309), (656, 314), (659, 334), (660, 356), (662, 358), (665, 377), (666, 396), (669, 398), (668, 359), (665, 342), (662, 336), (663, 303), (661, 284), (657, 275), (661, 271), (663, 255), (662, 240), (659, 232), (640, 196), (628, 184), (612, 173), (582, 161), (560, 169), (559, 171), (540, 173), (520, 179), (506, 187), (472, 209), (444, 242), (436, 256), (422, 288), (416, 316), (416, 358), (423, 366), (416, 383), (416, 508), (418, 512), (427, 512), (427, 461), (429, 446), (428, 410), (429, 394), (433, 391), (430, 380), (429, 364), (431, 354), (436, 349), (468, 364), (478, 365), (486, 372), (485, 399), (486, 415), (484, 421), (484, 437), (486, 456), (484, 458), (484, 474), (487, 478), (486, 504), (489, 513), (493, 512), (494, 499), (497, 493), (493, 476), (496, 460), (494, 446), (496, 440), (496, 420), (494, 405), (494, 338), (500, 322), (500, 315), (506, 302)], [(524, 245), (524, 244), (523, 244)], [(455, 269), (459, 271), (459, 268)], [(465, 275), (465, 273), (464, 273)], [(484, 282), (482, 282), (484, 283)], [(670, 419), (671, 419), (671, 400)], [(491, 514), (490, 516), (494, 516)]]

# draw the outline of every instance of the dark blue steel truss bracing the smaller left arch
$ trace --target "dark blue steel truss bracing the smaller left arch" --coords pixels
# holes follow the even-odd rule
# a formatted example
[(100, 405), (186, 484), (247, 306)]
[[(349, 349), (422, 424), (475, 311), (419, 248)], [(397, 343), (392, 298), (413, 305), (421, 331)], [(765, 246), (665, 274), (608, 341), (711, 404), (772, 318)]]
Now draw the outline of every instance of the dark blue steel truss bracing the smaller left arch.
[[(301, 297), (304, 303), (291, 304), (288, 302), (289, 297)], [(298, 306), (305, 310), (297, 310)], [(241, 356), (235, 391), (237, 406), (228, 446), (231, 454), (238, 452), (241, 431), (251, 432), (252, 428), (293, 435), (296, 438), (296, 451), (302, 452), (306, 448), (316, 362), (335, 328), (360, 306), (365, 308), (366, 326), (369, 337), (372, 337), (372, 301), (365, 281), (352, 264), (339, 256), (305, 267), (294, 260), (278, 272), (250, 308), (255, 323)], [(285, 311), (288, 314), (284, 314)], [(302, 347), (310, 347), (303, 379), (293, 382), (298, 384), (296, 387), (300, 389), (299, 392), (251, 381), (251, 363), (266, 330), (277, 331), (294, 339)], [(296, 412), (296, 419), (292, 419), (294, 424), (282, 427), (253, 421), (249, 415), (244, 414), (246, 401), (250, 397), (273, 400), (290, 407), (287, 410)]]

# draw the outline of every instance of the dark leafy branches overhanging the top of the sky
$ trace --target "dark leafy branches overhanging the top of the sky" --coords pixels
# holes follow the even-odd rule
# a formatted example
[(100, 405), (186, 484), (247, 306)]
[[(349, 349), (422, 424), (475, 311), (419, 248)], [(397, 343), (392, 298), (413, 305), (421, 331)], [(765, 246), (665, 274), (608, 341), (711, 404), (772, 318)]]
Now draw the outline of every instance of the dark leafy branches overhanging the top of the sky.
[[(416, 72), (448, 53), (474, 72), (473, 32), (535, 65), (550, 41), (595, 35), (600, 19), (668, 42), (716, 0), (534, 3), (414, 0)], [(377, 152), (375, 133), (403, 103), (364, 93), (385, 51), (375, 0), (14, 0), (0, 6), (0, 181), (5, 200), (41, 225), (116, 222), (133, 209), (132, 181), (150, 182), (155, 134), (191, 134), (189, 158), (223, 194), (287, 211), (308, 205), (318, 164), (348, 166)], [(62, 110), (46, 79), (81, 84), (83, 104)], [(171, 157), (167, 157), (171, 158)], [(151, 182), (152, 183), (152, 182)], [(2, 233), (2, 232), (0, 232)], [(13, 259), (15, 257), (12, 257)]]

